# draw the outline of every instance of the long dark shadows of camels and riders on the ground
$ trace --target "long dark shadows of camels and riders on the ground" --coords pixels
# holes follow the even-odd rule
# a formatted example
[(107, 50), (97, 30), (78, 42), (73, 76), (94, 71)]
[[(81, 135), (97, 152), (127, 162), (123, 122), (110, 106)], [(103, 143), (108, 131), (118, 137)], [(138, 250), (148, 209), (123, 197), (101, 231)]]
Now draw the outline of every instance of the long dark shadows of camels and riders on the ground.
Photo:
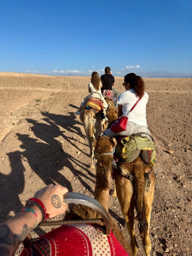
[[(81, 135), (80, 129), (75, 127), (76, 123), (79, 122), (74, 117), (71, 121), (70, 116), (49, 114), (48, 112), (43, 113), (45, 116), (50, 115), (50, 118), (55, 120), (55, 123), (49, 117), (44, 118), (45, 122), (27, 118), (28, 123), (31, 123), (29, 129), (34, 133), (35, 137), (30, 137), (29, 134), (17, 133), (17, 138), (22, 143), (20, 145), (21, 150), (7, 152), (11, 171), (8, 175), (0, 173), (0, 187), (2, 188), (0, 189), (2, 198), (0, 201), (0, 212), (2, 221), (7, 218), (10, 210), (17, 212), (19, 208), (23, 207), (19, 198), (19, 194), (22, 194), (25, 186), (24, 171), (26, 170), (23, 161), (32, 170), (28, 178), (32, 178), (33, 173), (35, 173), (47, 185), (58, 183), (72, 190), (71, 183), (65, 175), (68, 168), (73, 175), (78, 177), (82, 186), (93, 193), (86, 180), (89, 179), (91, 182), (94, 182), (95, 175), (88, 170), (86, 164), (69, 153), (64, 152), (60, 141), (56, 139), (61, 136), (70, 145), (80, 150), (75, 143), (75, 139), (71, 139), (70, 135), (65, 136), (58, 127), (60, 124), (66, 130), (70, 132), (75, 130), (78, 135)], [(77, 170), (76, 166), (84, 171)], [(84, 174), (84, 172), (87, 174)]]

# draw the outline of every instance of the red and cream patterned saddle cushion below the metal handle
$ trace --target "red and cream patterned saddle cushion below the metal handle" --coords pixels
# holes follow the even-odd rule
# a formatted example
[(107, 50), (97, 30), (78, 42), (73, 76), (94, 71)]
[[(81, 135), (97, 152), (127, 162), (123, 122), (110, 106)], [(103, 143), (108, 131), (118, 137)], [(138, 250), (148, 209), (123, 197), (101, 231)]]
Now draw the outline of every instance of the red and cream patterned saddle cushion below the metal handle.
[(62, 225), (24, 247), (20, 256), (128, 256), (112, 231), (96, 224)]

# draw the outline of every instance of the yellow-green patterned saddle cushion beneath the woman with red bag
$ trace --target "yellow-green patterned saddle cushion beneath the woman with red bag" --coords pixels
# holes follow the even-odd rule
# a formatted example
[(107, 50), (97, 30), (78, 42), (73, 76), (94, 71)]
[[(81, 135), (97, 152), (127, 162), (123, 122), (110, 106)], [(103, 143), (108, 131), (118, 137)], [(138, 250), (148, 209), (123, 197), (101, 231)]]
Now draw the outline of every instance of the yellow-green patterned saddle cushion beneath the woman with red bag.
[(152, 140), (140, 135), (118, 137), (115, 147), (116, 155), (123, 161), (132, 162), (138, 156), (141, 157), (146, 165), (153, 166), (156, 162), (156, 147)]

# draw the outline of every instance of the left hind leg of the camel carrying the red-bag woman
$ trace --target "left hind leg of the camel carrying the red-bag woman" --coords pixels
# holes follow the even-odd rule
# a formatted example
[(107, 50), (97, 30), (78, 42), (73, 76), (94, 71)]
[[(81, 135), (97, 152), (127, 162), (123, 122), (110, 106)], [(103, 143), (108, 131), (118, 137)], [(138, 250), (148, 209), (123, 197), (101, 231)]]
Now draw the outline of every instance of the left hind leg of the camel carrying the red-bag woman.
[(138, 244), (136, 242), (134, 231), (134, 194), (133, 186), (130, 180), (116, 174), (115, 178), (116, 194), (124, 216), (126, 228), (130, 236), (130, 246), (133, 255), (138, 252)]

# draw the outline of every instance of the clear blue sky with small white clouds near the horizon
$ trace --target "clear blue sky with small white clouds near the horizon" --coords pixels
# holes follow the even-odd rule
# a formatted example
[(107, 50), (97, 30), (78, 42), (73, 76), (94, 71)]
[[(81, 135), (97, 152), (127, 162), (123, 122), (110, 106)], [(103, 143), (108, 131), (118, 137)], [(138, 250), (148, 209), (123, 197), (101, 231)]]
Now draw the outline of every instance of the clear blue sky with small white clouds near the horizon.
[(191, 0), (0, 0), (0, 71), (192, 74)]

